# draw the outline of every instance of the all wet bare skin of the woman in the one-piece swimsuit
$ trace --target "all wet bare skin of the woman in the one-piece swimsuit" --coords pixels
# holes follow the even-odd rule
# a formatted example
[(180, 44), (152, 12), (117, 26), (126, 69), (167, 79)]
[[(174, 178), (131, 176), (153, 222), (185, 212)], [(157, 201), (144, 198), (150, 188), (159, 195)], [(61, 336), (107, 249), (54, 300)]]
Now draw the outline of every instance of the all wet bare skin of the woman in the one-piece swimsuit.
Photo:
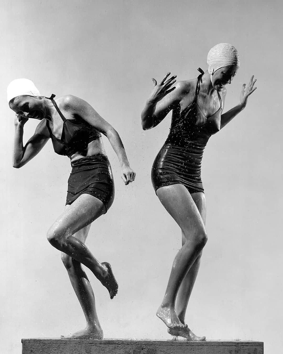
[[(231, 84), (237, 73), (237, 67), (230, 65), (214, 72), (212, 77), (206, 71), (200, 83), (197, 104), (203, 114), (213, 115), (220, 108), (217, 91), (224, 106), (227, 84)], [(197, 79), (176, 82), (176, 75), (167, 73), (154, 88), (141, 113), (141, 125), (144, 130), (158, 125), (173, 110), (172, 115), (181, 114), (194, 100)], [(222, 129), (244, 107), (248, 97), (255, 91), (254, 76), (249, 84), (244, 84), (239, 104), (226, 113), (219, 113), (218, 129)], [(175, 113), (176, 107), (178, 112)], [(181, 229), (182, 247), (177, 253), (169, 276), (164, 298), (156, 315), (168, 327), (173, 336), (185, 337), (188, 340), (203, 341), (205, 337), (197, 337), (185, 324), (185, 314), (192, 289), (195, 284), (202, 249), (207, 242), (205, 230), (206, 205), (203, 193), (192, 193), (182, 184), (173, 184), (157, 189), (162, 205), (174, 218)]]

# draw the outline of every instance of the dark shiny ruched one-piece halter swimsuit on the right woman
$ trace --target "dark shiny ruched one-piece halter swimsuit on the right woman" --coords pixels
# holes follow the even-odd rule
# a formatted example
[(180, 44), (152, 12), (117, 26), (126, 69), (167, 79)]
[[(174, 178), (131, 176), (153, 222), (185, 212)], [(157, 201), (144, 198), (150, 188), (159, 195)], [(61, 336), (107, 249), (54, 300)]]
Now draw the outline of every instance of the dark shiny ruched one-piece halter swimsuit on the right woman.
[(222, 101), (217, 92), (220, 108), (209, 117), (204, 115), (197, 103), (202, 75), (198, 76), (192, 103), (183, 112), (179, 107), (173, 109), (169, 135), (151, 170), (155, 192), (172, 184), (183, 184), (189, 193), (204, 192), (201, 161), (208, 139), (219, 131)]

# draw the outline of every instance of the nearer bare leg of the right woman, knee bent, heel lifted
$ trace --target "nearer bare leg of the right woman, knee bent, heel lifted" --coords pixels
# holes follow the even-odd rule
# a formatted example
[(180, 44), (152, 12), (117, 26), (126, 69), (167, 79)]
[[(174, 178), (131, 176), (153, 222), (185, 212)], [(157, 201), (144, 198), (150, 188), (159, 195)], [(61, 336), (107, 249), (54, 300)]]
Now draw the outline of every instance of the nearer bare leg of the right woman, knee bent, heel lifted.
[(169, 329), (184, 329), (186, 326), (175, 312), (175, 301), (180, 284), (200, 255), (207, 236), (200, 212), (184, 185), (161, 187), (157, 190), (157, 196), (180, 226), (186, 241), (174, 259), (165, 296), (156, 315)]

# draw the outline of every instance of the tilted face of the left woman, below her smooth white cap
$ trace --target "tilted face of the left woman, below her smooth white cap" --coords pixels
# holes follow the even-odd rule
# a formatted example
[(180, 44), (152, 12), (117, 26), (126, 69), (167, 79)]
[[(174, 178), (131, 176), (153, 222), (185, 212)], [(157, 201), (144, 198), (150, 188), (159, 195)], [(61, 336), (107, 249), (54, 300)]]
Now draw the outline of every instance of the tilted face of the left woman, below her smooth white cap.
[(16, 114), (24, 118), (44, 119), (46, 110), (40, 97), (18, 96), (9, 103), (10, 108)]

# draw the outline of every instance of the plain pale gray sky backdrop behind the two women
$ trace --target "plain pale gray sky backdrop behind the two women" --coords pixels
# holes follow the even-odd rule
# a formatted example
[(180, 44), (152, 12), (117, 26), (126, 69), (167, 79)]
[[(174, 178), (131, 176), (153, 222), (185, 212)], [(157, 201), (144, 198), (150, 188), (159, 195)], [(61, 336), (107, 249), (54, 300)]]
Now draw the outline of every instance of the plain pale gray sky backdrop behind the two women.
[[(224, 111), (238, 103), (252, 74), (258, 89), (204, 152), (209, 241), (186, 320), (207, 339), (259, 340), (266, 354), (279, 353), (282, 2), (4, 0), (0, 27), (2, 353), (20, 353), (21, 338), (59, 337), (85, 326), (60, 253), (46, 240), (64, 209), (70, 162), (48, 142), (28, 165), (12, 168), (8, 83), (24, 77), (42, 95), (79, 96), (120, 133), (137, 177), (123, 185), (104, 138), (116, 198), (87, 240), (99, 261), (112, 264), (119, 281), (114, 300), (87, 274), (105, 338), (169, 339), (155, 312), (181, 235), (154, 193), (150, 170), (170, 116), (144, 132), (140, 112), (152, 77), (159, 81), (168, 71), (179, 80), (196, 77), (219, 42), (235, 45), (241, 59)], [(27, 122), (24, 141), (36, 124)]]

